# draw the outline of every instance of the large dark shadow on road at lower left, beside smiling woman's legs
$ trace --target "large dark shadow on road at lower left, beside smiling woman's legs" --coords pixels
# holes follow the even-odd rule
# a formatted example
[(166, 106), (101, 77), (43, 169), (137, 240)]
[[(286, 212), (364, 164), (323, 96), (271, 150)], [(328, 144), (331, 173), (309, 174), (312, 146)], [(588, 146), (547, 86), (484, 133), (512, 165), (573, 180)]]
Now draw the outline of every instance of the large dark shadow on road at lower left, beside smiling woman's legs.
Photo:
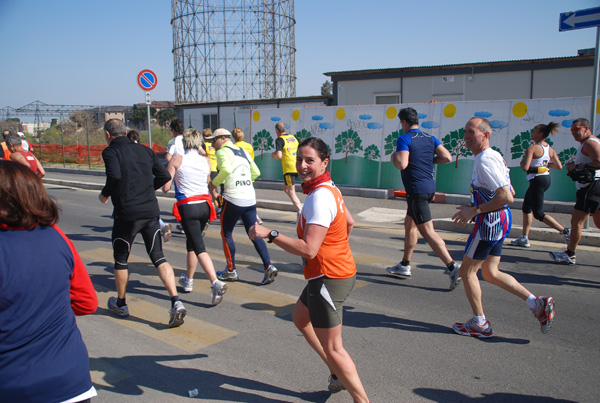
[[(205, 401), (248, 403), (279, 403), (292, 400), (317, 403), (326, 402), (330, 396), (327, 391), (296, 392), (271, 383), (190, 368), (195, 363), (187, 361), (201, 358), (211, 357), (206, 354), (90, 357), (90, 369), (103, 374), (101, 382), (97, 381), (94, 384), (97, 389), (118, 395), (142, 396), (145, 390), (153, 389), (169, 395), (187, 397), (188, 390), (198, 389), (198, 397)], [(169, 362), (173, 361), (186, 361), (181, 364), (185, 368), (170, 366)], [(281, 397), (266, 397), (265, 393)], [(124, 400), (128, 399), (124, 397)], [(169, 401), (169, 398), (167, 396), (161, 400)]]

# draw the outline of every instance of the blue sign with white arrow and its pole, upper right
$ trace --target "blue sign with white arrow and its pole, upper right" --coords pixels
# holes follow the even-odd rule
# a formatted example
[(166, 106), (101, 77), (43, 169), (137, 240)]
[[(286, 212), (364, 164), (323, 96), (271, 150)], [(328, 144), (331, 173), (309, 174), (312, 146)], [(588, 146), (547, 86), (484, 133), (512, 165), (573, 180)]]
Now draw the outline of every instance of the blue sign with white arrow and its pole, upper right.
[(598, 66), (600, 61), (600, 55), (598, 55), (598, 49), (600, 48), (600, 7), (560, 13), (560, 17), (558, 19), (558, 30), (561, 32), (591, 27), (596, 27), (596, 52), (594, 62), (594, 86), (592, 91), (591, 125), (594, 134), (598, 135), (598, 133), (596, 133), (596, 104), (598, 102)]

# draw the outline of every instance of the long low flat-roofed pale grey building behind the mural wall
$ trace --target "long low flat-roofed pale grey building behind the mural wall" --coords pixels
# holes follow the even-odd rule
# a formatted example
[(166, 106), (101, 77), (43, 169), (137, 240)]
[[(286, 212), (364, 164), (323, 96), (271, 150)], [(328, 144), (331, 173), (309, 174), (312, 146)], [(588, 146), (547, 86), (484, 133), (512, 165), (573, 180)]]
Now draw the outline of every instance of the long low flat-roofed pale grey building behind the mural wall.
[[(591, 96), (594, 56), (325, 73), (334, 105)], [(592, 52), (593, 53), (593, 49)]]

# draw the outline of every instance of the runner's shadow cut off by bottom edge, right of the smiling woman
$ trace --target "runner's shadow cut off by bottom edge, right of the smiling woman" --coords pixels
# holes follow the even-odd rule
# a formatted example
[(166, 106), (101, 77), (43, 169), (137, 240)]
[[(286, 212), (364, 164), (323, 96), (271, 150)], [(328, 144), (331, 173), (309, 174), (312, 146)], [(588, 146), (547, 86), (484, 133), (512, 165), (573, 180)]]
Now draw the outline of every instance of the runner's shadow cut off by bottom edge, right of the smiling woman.
[(516, 393), (482, 393), (481, 397), (470, 397), (454, 390), (416, 388), (413, 392), (434, 402), (485, 402), (485, 403), (575, 403), (574, 400), (555, 399), (548, 396), (531, 396)]

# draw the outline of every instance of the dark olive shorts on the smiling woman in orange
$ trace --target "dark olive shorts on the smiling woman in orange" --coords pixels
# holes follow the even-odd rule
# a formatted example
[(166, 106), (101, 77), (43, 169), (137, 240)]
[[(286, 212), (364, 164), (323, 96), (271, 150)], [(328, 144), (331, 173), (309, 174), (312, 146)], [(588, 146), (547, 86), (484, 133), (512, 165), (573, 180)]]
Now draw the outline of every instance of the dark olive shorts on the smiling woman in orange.
[(350, 278), (323, 276), (308, 282), (300, 294), (300, 302), (308, 307), (314, 328), (330, 329), (342, 324), (342, 305), (355, 283), (356, 275)]

